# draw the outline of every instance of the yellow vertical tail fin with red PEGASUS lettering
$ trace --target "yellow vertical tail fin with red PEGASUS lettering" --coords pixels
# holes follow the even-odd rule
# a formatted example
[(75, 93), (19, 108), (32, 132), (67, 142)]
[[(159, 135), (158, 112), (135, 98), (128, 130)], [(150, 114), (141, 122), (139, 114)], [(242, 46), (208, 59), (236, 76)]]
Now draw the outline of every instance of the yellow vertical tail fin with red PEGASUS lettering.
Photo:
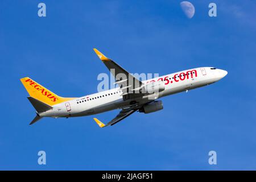
[(44, 88), (42, 85), (38, 84), (31, 78), (24, 77), (21, 78), (20, 81), (22, 82), (31, 97), (49, 106), (53, 106), (55, 104), (74, 99), (57, 96), (55, 93), (51, 92), (47, 88)]

